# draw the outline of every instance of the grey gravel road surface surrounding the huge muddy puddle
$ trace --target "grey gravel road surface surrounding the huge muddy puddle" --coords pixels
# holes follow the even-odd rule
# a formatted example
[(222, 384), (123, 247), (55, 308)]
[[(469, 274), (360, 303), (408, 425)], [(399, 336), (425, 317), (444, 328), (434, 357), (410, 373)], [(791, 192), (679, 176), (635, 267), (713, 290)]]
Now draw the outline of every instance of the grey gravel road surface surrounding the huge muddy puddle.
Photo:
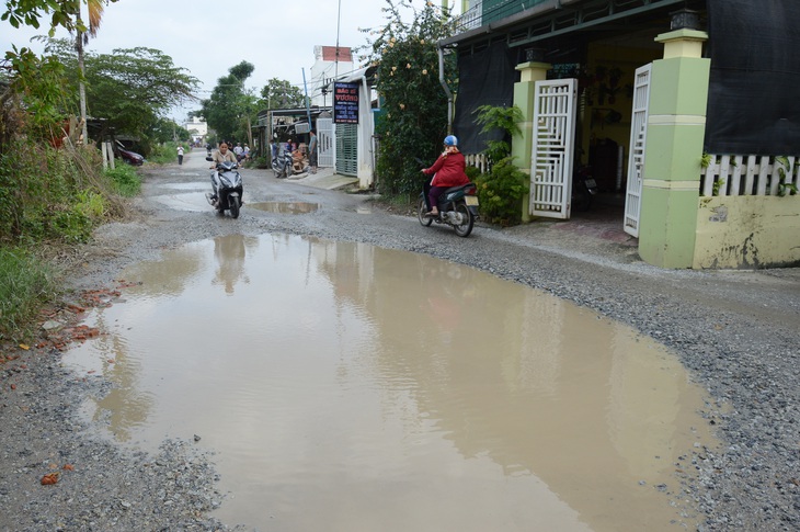
[[(247, 202), (304, 201), (320, 208), (283, 215), (248, 208), (239, 219), (164, 203), (168, 183), (198, 181), (184, 168), (147, 168), (132, 217), (100, 228), (62, 253), (75, 294), (113, 287), (123, 268), (164, 249), (226, 234), (287, 233), (426, 253), (549, 292), (622, 321), (678, 353), (708, 390), (701, 412), (723, 444), (696, 449), (676, 469), (679, 494), (704, 516), (701, 531), (800, 530), (800, 269), (670, 271), (638, 259), (631, 242), (563, 225), (500, 229), (479, 224), (461, 239), (423, 228), (370, 196), (279, 181), (245, 170)], [(198, 167), (199, 168), (199, 167)], [(205, 183), (205, 178), (199, 180)], [(65, 302), (65, 307), (67, 306)], [(101, 437), (77, 406), (102, 397), (102, 377), (78, 377), (52, 346), (4, 348), (0, 363), (0, 529), (237, 530), (209, 512), (224, 501), (214, 457), (194, 441), (164, 441), (158, 453)], [(16, 358), (19, 356), (19, 358)], [(65, 468), (66, 466), (69, 466)], [(43, 485), (46, 475), (57, 483)]]

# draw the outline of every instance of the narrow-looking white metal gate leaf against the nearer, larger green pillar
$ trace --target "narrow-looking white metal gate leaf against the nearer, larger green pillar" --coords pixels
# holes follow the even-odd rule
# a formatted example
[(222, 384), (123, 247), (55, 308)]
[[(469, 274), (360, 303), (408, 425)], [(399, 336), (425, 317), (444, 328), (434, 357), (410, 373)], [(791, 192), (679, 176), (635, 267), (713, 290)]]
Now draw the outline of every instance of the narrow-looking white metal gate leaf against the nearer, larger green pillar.
[(628, 156), (628, 186), (625, 194), (625, 233), (639, 237), (642, 201), (642, 170), (648, 133), (650, 104), (650, 72), (652, 64), (639, 67), (633, 79), (633, 109), (630, 121), (630, 155)]

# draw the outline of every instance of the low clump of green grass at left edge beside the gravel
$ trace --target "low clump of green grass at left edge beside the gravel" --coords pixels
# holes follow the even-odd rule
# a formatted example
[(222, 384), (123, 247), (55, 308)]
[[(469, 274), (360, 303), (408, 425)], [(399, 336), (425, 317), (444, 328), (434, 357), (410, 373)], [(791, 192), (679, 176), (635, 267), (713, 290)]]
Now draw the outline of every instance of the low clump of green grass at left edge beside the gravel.
[(0, 339), (20, 341), (33, 332), (38, 312), (58, 287), (50, 267), (21, 248), (0, 248)]

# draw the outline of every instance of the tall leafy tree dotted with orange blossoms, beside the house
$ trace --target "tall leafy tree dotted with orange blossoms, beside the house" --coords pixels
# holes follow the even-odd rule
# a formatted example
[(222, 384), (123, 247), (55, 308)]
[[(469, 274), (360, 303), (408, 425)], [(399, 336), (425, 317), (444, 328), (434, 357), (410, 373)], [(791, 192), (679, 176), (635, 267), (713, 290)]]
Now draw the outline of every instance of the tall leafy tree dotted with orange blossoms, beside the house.
[[(447, 9), (425, 2), (403, 22), (400, 7), (386, 0), (388, 23), (369, 44), (368, 59), (378, 65), (376, 89), (385, 116), (376, 124), (380, 136), (377, 173), (381, 191), (389, 194), (420, 190), (424, 177), (416, 158), (431, 163), (447, 134), (447, 97), (438, 79), (436, 43), (453, 34)], [(455, 57), (445, 60), (445, 80), (455, 89)]]

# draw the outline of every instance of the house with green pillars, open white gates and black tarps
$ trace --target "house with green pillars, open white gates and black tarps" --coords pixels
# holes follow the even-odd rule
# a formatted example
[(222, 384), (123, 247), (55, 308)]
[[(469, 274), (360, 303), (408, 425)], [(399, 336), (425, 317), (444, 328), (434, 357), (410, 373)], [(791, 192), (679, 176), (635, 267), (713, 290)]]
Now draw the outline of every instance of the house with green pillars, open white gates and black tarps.
[(663, 268), (800, 264), (796, 0), (469, 0), (453, 129), (516, 104), (524, 217), (569, 218), (575, 165), (624, 197), (620, 226)]

